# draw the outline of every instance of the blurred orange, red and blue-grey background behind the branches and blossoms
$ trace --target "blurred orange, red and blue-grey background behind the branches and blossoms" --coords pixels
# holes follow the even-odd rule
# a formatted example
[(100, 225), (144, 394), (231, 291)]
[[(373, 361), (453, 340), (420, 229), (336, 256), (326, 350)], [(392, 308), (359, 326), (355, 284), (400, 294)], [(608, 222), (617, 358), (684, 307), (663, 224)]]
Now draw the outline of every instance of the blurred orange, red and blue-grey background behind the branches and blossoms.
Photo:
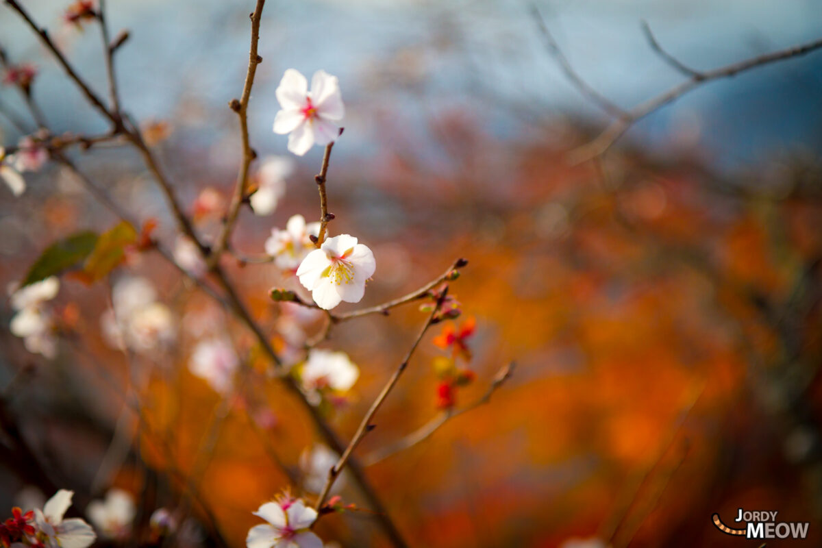
[[(99, 35), (62, 25), (65, 2), (26, 3), (104, 92)], [(112, 28), (132, 34), (117, 57), (122, 103), (140, 122), (168, 123), (157, 146), (178, 196), (192, 205), (215, 187), (227, 199), (240, 145), (226, 104), (242, 89), (250, 2), (109, 4)], [(815, 39), (822, 29), (812, 0), (536, 6), (580, 75), (626, 108), (682, 80), (649, 48), (640, 21), (699, 69)], [(56, 131), (104, 130), (5, 8), (0, 40), (12, 58), (38, 65), (35, 96)], [(704, 85), (638, 123), (603, 159), (578, 165), (569, 151), (607, 118), (557, 68), (526, 2), (274, 1), (260, 53), (249, 111), (260, 154), (287, 154), (285, 138), (270, 131), (284, 69), (339, 76), (347, 114), (330, 169), (331, 227), (375, 252), (361, 304), (418, 288), (464, 256), (470, 264), (453, 291), (477, 320), (469, 340), (478, 379), (459, 403), (483, 394), (506, 361), (518, 364), (491, 403), (368, 468), (413, 546), (560, 546), (594, 537), (611, 546), (742, 546), (710, 523), (713, 512), (730, 522), (739, 507), (810, 521), (812, 538), (799, 546), (820, 542), (822, 53)], [(25, 113), (13, 90), (0, 90), (0, 99)], [(0, 124), (3, 142), (16, 143), (15, 129)], [(242, 213), (240, 251), (261, 253), (270, 228), (291, 214), (316, 216), (320, 159), (319, 147), (298, 159), (275, 214)], [(159, 219), (159, 237), (173, 242), (173, 219), (132, 151), (92, 150), (76, 161), (141, 218)], [(28, 181), (19, 199), (2, 189), (3, 286), (54, 239), (115, 222), (58, 168)], [(156, 257), (126, 269), (152, 279), (181, 322), (211, 313), (206, 297)], [(231, 275), (273, 329), (266, 292), (284, 283), (280, 274), (247, 265)], [(104, 287), (64, 281), (58, 303), (76, 303), (81, 314), (54, 361), (27, 354), (7, 329), (0, 334), (4, 383), (23, 366), (35, 371), (5, 394), (8, 406), (49, 463), (49, 481), (86, 501), (99, 495), (95, 477), (126, 421), (122, 386), (133, 370), (148, 371), (137, 375), (146, 413), (182, 470), (196, 462), (219, 406), (186, 371), (190, 337), (138, 363), (107, 349), (99, 333), (107, 299)], [(11, 315), (5, 302), (5, 325)], [(362, 371), (353, 402), (333, 419), (344, 437), (422, 320), (409, 306), (335, 329), (326, 346), (348, 352)], [(242, 329), (229, 324), (242, 341)], [(361, 454), (436, 414), (431, 363), (440, 353), (429, 336)], [(178, 373), (151, 372), (169, 369)], [(202, 477), (235, 546), (256, 523), (250, 512), (285, 485), (271, 447), (295, 464), (312, 443), (289, 396), (269, 385), (258, 395), (276, 420), (261, 435), (229, 412)], [(169, 463), (136, 439), (109, 479), (140, 495), (150, 470)], [(0, 470), (2, 508), (31, 482), (18, 472)], [(341, 494), (359, 501), (353, 490)], [(319, 532), (344, 546), (384, 542), (367, 512), (330, 518)]]

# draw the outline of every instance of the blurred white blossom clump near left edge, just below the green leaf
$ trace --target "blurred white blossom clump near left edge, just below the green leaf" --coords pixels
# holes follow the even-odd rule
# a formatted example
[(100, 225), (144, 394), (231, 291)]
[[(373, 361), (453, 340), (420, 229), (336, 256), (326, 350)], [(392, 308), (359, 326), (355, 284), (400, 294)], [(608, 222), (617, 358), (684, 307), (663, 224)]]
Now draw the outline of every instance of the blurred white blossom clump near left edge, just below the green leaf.
[(48, 359), (57, 356), (57, 338), (51, 313), (44, 303), (57, 297), (60, 280), (54, 276), (31, 283), (23, 288), (10, 288), (12, 308), (17, 312), (9, 328), (23, 339), (25, 349)]

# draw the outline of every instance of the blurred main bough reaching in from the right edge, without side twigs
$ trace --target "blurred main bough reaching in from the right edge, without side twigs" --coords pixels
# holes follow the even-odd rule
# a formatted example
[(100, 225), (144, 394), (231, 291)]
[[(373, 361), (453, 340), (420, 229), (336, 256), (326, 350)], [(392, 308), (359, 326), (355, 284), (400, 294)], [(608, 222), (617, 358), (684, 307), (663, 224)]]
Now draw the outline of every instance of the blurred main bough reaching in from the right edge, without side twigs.
[(822, 39), (808, 42), (794, 46), (792, 48), (782, 49), (772, 53), (765, 53), (764, 55), (755, 58), (746, 59), (741, 62), (735, 62), (724, 67), (715, 68), (711, 71), (698, 72), (690, 76), (690, 80), (684, 81), (679, 85), (675, 85), (670, 90), (656, 97), (639, 104), (635, 108), (628, 111), (628, 117), (621, 118), (611, 122), (599, 136), (589, 142), (587, 145), (582, 145), (579, 148), (570, 152), (570, 159), (572, 163), (581, 163), (596, 156), (605, 154), (611, 146), (625, 134), (631, 126), (639, 122), (650, 113), (663, 108), (665, 105), (672, 103), (679, 99), (682, 95), (688, 93), (705, 82), (719, 80), (722, 78), (730, 78), (737, 74), (748, 71), (755, 67), (762, 67), (772, 62), (783, 61), (784, 59), (796, 58), (806, 53), (822, 48)]

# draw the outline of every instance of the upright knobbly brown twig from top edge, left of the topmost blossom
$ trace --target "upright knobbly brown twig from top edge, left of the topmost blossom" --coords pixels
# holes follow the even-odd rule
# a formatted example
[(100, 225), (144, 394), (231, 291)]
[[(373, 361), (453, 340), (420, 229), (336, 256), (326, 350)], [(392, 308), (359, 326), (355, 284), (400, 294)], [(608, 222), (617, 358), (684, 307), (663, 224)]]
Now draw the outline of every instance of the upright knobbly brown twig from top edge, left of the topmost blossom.
[(256, 8), (250, 15), (252, 20), (252, 39), (251, 48), (248, 52), (248, 71), (246, 73), (246, 81), (242, 86), (242, 95), (240, 100), (232, 99), (231, 103), (229, 103), (231, 109), (237, 113), (237, 116), (240, 119), (240, 136), (242, 136), (242, 162), (240, 163), (240, 170), (237, 175), (237, 184), (234, 185), (234, 193), (231, 196), (229, 211), (226, 213), (225, 220), (223, 222), (223, 228), (220, 230), (219, 236), (215, 241), (215, 245), (211, 249), (209, 266), (212, 268), (217, 264), (217, 261), (219, 261), (219, 256), (222, 255), (228, 245), (234, 225), (237, 223), (237, 216), (240, 206), (242, 205), (242, 200), (246, 196), (249, 168), (252, 161), (256, 158), (256, 152), (252, 149), (248, 137), (248, 100), (251, 98), (252, 94), (256, 67), (262, 62), (262, 58), (257, 55), (257, 43), (260, 41), (260, 18), (262, 16), (262, 8), (265, 4), (266, 0), (257, 0)]

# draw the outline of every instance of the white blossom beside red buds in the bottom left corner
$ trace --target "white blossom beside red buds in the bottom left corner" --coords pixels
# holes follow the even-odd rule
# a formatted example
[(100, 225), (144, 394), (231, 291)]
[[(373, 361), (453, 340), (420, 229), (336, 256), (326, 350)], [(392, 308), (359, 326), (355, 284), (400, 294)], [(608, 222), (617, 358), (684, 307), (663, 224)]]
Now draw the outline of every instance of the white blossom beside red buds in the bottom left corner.
[(43, 509), (35, 509), (37, 538), (47, 548), (86, 548), (97, 536), (94, 529), (80, 518), (63, 519), (72, 505), (74, 491), (58, 490)]

